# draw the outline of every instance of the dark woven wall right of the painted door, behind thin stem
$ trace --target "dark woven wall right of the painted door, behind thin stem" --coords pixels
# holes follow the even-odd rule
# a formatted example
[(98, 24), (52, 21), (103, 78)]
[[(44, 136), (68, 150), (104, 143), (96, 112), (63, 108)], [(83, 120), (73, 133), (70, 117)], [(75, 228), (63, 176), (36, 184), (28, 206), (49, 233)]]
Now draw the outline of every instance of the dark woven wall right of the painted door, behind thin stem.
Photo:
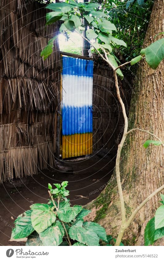
[[(132, 78), (119, 80), (121, 97), (129, 111)], [(93, 150), (116, 148), (123, 134), (123, 113), (117, 99), (113, 72), (103, 62), (94, 63), (93, 76)]]

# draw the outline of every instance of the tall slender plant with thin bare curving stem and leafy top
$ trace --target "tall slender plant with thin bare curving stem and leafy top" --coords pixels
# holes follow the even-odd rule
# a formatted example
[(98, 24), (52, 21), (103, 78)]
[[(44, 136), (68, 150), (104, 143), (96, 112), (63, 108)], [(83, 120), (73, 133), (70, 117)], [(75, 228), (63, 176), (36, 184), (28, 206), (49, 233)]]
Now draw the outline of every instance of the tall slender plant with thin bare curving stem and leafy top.
[[(128, 118), (126, 115), (125, 105), (122, 101), (120, 96), (120, 90), (118, 87), (118, 76), (123, 79), (123, 73), (121, 68), (125, 65), (134, 65), (137, 62), (145, 59), (148, 65), (152, 69), (156, 69), (160, 62), (164, 58), (164, 38), (152, 43), (145, 49), (142, 49), (140, 55), (135, 57), (129, 62), (126, 62), (122, 65), (118, 65), (118, 59), (112, 53), (112, 47), (110, 43), (115, 43), (117, 45), (123, 45), (126, 47), (126, 43), (118, 38), (112, 36), (112, 31), (117, 31), (115, 25), (108, 20), (106, 14), (99, 10), (99, 5), (95, 3), (77, 3), (76, 1), (67, 1), (68, 3), (55, 3), (50, 4), (46, 8), (53, 10), (46, 15), (46, 25), (50, 25), (53, 22), (58, 20), (63, 21), (63, 24), (60, 27), (60, 32), (64, 34), (71, 33), (76, 31), (78, 34), (81, 34), (82, 38), (85, 39), (87, 42), (90, 43), (92, 48), (99, 54), (99, 56), (113, 69), (114, 80), (115, 80), (115, 87), (117, 92), (118, 101), (122, 107), (122, 113), (124, 117), (124, 132), (122, 136), (122, 140), (118, 145), (118, 152), (116, 157), (116, 178), (117, 178), (117, 185), (118, 185), (118, 192), (119, 198), (121, 203), (121, 227), (118, 233), (118, 238), (116, 240), (115, 245), (119, 246), (124, 234), (124, 231), (129, 227), (129, 225), (134, 220), (134, 217), (141, 210), (141, 208), (158, 192), (164, 189), (164, 185), (160, 188), (156, 189), (152, 192), (131, 214), (131, 216), (126, 219), (126, 209), (125, 209), (125, 202), (122, 192), (122, 185), (120, 179), (120, 155), (122, 147), (125, 143), (127, 136), (131, 132), (146, 132), (153, 136), (156, 140), (147, 140), (144, 143), (144, 147), (147, 148), (150, 144), (154, 145), (162, 145), (164, 146), (163, 141), (153, 133), (149, 132), (148, 130), (144, 129), (131, 129), (128, 131)], [(85, 27), (83, 26), (83, 22), (86, 22), (87, 26), (90, 29), (86, 30), (86, 37), (83, 36), (83, 31)], [(41, 52), (41, 56), (44, 60), (52, 53), (53, 51), (53, 42), (57, 38), (55, 36), (48, 42), (48, 45), (45, 49)], [(94, 42), (94, 43), (93, 43)], [(100, 44), (101, 43), (101, 44)]]

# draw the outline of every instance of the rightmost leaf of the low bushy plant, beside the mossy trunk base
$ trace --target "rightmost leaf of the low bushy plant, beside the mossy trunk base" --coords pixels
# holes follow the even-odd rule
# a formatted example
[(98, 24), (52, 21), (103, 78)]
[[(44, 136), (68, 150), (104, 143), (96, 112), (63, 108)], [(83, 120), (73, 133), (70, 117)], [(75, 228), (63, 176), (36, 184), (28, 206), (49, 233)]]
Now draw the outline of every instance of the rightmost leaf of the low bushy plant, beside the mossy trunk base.
[(93, 231), (94, 233), (96, 233), (100, 239), (102, 239), (102, 240), (104, 240), (104, 241), (107, 241), (106, 231), (105, 231), (105, 229), (104, 229), (102, 226), (100, 226), (99, 224), (94, 223), (94, 222), (84, 222), (84, 223), (83, 223), (83, 227), (84, 227), (86, 230)]

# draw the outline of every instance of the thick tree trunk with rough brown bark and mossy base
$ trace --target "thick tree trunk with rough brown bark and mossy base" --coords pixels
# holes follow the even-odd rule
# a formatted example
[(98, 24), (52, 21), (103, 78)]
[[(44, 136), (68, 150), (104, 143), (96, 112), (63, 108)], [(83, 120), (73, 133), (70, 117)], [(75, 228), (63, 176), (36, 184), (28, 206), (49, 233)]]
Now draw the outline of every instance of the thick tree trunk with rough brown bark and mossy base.
[[(155, 1), (142, 48), (162, 38), (162, 34), (155, 39), (154, 36), (164, 31), (163, 14), (163, 0)], [(163, 62), (156, 70), (151, 69), (146, 61), (140, 62), (131, 99), (129, 129), (146, 129), (164, 140), (162, 69)], [(154, 138), (145, 132), (133, 132), (122, 149), (120, 172), (127, 217), (163, 184), (163, 147), (150, 145), (145, 149), (143, 143), (146, 140)], [(159, 200), (160, 195), (154, 196), (140, 210), (125, 231), (123, 242), (126, 245), (143, 245), (146, 223), (154, 216)], [(117, 236), (121, 213), (115, 173), (100, 196), (88, 205), (94, 212), (98, 207), (95, 221), (106, 228), (107, 234)]]

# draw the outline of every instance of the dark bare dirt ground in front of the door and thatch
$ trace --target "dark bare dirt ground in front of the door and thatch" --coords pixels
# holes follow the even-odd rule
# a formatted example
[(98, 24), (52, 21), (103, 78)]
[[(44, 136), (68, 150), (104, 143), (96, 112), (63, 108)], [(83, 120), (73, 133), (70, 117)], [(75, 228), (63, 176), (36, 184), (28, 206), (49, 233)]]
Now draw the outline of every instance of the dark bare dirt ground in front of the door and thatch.
[[(13, 188), (5, 183), (0, 186), (0, 245), (23, 246), (22, 242), (10, 242), (11, 230), (18, 215), (34, 203), (47, 203), (48, 183), (69, 181), (70, 203), (85, 205), (94, 200), (110, 179), (115, 166), (115, 151), (103, 150), (89, 157), (63, 160), (64, 167), (43, 170), (38, 175), (19, 180)], [(65, 172), (69, 167), (69, 172)], [(16, 182), (17, 182), (16, 181)], [(14, 183), (15, 184), (15, 183)]]

